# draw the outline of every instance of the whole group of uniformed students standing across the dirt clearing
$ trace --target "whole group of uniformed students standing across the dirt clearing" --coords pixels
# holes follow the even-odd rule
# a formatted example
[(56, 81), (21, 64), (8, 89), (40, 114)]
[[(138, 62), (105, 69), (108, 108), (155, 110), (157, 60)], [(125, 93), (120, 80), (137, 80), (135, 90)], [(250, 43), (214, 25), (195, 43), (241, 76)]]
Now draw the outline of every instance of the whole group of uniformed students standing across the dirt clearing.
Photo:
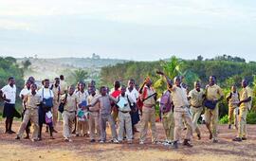
[[(199, 117), (204, 113), (206, 127), (209, 130), (213, 143), (218, 142), (217, 125), (219, 117), (219, 102), (224, 98), (222, 89), (215, 83), (216, 78), (210, 76), (209, 84), (205, 89), (200, 81), (194, 82), (194, 88), (188, 91), (181, 77), (174, 80), (158, 71), (167, 83), (166, 91), (159, 98), (161, 120), (165, 130), (165, 145), (178, 148), (182, 132), (186, 130), (182, 144), (192, 147), (192, 133), (195, 132), (201, 139), (200, 128), (197, 124)], [(57, 132), (57, 122), (63, 119), (64, 141), (71, 142), (72, 134), (76, 136), (89, 136), (90, 142), (106, 142), (107, 123), (111, 129), (111, 141), (114, 143), (132, 143), (134, 134), (138, 133), (136, 125), (140, 120), (139, 144), (144, 144), (148, 127), (151, 129), (152, 143), (157, 144), (155, 126), (155, 105), (157, 94), (150, 78), (144, 80), (140, 88), (136, 87), (135, 80), (128, 81), (128, 85), (114, 82), (114, 88), (109, 90), (106, 86), (96, 89), (92, 80), (87, 88), (83, 81), (77, 86), (67, 86), (64, 76), (42, 81), (39, 88), (33, 77), (28, 78), (24, 89), (20, 93), (23, 100), (22, 123), (16, 139), (30, 138), (30, 126), (33, 128), (31, 140), (42, 140), (43, 125), (50, 138)], [(6, 133), (15, 134), (11, 125), (14, 116), (19, 117), (15, 110), (16, 87), (14, 78), (9, 78), (9, 84), (0, 90), (0, 96), (5, 101), (3, 117), (6, 117)], [(235, 86), (227, 96), (229, 101), (229, 129), (233, 114), (235, 114), (235, 127), (237, 137), (233, 141), (247, 139), (247, 112), (251, 108), (252, 93), (247, 80), (242, 80), (242, 91), (239, 95)], [(119, 130), (117, 133), (117, 129)]]

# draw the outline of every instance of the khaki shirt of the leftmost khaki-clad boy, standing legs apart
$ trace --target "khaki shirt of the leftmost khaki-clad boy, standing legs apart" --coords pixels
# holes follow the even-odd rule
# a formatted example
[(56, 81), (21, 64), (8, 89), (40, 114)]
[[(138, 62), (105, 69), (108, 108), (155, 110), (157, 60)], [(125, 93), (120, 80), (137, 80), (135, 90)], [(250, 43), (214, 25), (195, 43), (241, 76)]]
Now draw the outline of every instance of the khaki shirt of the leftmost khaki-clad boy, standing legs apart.
[(32, 95), (31, 92), (29, 92), (25, 96), (25, 102), (26, 102), (26, 108), (27, 109), (36, 109), (38, 108), (38, 105), (40, 103), (41, 99), (38, 94)]

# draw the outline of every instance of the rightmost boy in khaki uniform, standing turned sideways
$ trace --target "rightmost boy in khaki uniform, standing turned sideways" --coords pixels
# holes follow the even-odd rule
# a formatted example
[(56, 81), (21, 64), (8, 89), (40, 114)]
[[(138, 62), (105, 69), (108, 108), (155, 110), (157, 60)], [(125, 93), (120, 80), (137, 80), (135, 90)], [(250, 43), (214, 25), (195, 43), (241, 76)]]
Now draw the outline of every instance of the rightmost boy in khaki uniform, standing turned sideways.
[(237, 137), (233, 141), (247, 140), (247, 113), (251, 109), (252, 90), (247, 86), (248, 81), (242, 80), (242, 95), (239, 106), (239, 126)]

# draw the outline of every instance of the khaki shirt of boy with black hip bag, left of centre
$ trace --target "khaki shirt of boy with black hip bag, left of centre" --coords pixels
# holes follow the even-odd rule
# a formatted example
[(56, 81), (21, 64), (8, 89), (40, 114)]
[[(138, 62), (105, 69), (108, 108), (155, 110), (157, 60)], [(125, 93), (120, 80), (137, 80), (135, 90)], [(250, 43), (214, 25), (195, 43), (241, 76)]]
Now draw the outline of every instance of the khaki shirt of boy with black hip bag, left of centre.
[[(65, 99), (65, 95), (64, 94), (61, 98), (62, 101), (64, 101)], [(73, 95), (69, 95), (67, 94), (67, 97), (66, 97), (66, 101), (65, 101), (65, 104), (64, 104), (64, 111), (68, 111), (68, 112), (74, 112), (77, 110), (77, 103), (78, 103), (78, 97), (73, 94)]]

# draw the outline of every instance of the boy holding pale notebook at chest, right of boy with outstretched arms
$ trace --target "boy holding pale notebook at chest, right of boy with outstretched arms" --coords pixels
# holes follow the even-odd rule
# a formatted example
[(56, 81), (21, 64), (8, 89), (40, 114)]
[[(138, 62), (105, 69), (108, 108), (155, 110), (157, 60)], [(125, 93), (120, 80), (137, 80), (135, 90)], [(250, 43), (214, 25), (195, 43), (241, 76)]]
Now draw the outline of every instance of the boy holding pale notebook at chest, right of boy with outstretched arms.
[(119, 100), (122, 100), (124, 104), (119, 105), (119, 141), (123, 140), (124, 133), (126, 134), (128, 144), (132, 143), (133, 139), (133, 128), (132, 128), (132, 118), (130, 115), (131, 107), (130, 105), (134, 103), (133, 99), (130, 98), (126, 92), (126, 86), (122, 85), (120, 89), (121, 93), (119, 95)]

